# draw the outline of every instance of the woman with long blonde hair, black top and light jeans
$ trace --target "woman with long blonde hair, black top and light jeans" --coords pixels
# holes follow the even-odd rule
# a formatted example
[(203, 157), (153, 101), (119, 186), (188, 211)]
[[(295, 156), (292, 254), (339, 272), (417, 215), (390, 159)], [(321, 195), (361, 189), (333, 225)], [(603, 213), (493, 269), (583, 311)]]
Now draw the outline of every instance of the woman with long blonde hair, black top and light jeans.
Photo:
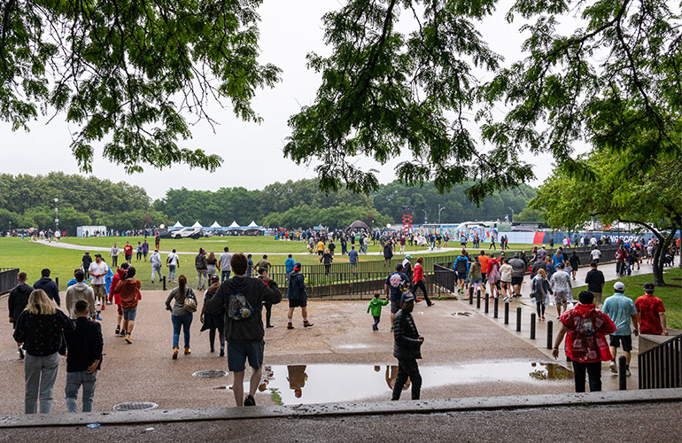
[(40, 413), (50, 414), (52, 391), (57, 379), (60, 348), (65, 330), (73, 330), (74, 323), (61, 312), (45, 291), (37, 289), (28, 297), (26, 309), (17, 319), (14, 339), (22, 343), (24, 360), (24, 412), (35, 414), (40, 395)]

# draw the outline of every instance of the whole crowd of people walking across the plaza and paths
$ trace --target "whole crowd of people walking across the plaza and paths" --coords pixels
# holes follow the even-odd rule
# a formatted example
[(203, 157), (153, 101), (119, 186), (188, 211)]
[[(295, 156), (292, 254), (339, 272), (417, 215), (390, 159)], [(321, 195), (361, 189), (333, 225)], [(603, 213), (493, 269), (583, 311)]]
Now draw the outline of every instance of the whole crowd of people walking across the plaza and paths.
[[(341, 243), (342, 250), (347, 246), (343, 236), (340, 239), (332, 235), (314, 240), (317, 240), (315, 250), (325, 266), (330, 265), (333, 260), (335, 240)], [(384, 245), (385, 257), (387, 252), (392, 254), (394, 248), (404, 246), (403, 241), (407, 243), (409, 240), (401, 236), (379, 237), (372, 241)], [(360, 248), (362, 245), (363, 242), (360, 242)], [(160, 282), (164, 261), (159, 254), (159, 245), (156, 246), (149, 256), (152, 283), (155, 278), (159, 278)], [(635, 264), (639, 265), (641, 260), (652, 253), (648, 251), (649, 246), (656, 247), (655, 243), (642, 245), (636, 242), (633, 245), (622, 245), (621, 249), (626, 252), (625, 256), (634, 251), (637, 259)], [(617, 262), (620, 262), (621, 249), (616, 252)], [(136, 261), (146, 261), (149, 250), (146, 240), (139, 244)], [(646, 254), (640, 255), (642, 251)], [(13, 338), (18, 346), (19, 358), (25, 360), (27, 414), (35, 413), (38, 404), (41, 413), (50, 412), (52, 390), (58, 372), (58, 354), (67, 354), (65, 398), (68, 410), (77, 410), (76, 399), (81, 388), (82, 410), (91, 410), (97, 371), (101, 368), (103, 359), (102, 330), (97, 321), (102, 320), (102, 312), (107, 306), (115, 304), (117, 308), (115, 334), (125, 338), (129, 345), (134, 343), (137, 307), (143, 298), (142, 285), (136, 278), (136, 268), (133, 266), (135, 252), (135, 246), (129, 242), (126, 242), (122, 250), (113, 245), (109, 253), (112, 267), (100, 253), (96, 253), (93, 259), (86, 252), (81, 259), (80, 268), (74, 270), (74, 278), (67, 284), (63, 309), (60, 308), (62, 300), (58, 286), (50, 278), (50, 269), (43, 269), (41, 278), (32, 285), (27, 284), (28, 276), (25, 272), (19, 273), (18, 284), (12, 289), (8, 303), (10, 322), (14, 327)], [(125, 260), (118, 266), (120, 253)], [(353, 242), (348, 253), (351, 257), (354, 253), (357, 260), (358, 253)], [(623, 295), (624, 284), (616, 282), (614, 295), (601, 307), (605, 281), (598, 268), (601, 260), (598, 245), (594, 245), (590, 253), (591, 269), (585, 276), (587, 291), (581, 292), (578, 300), (572, 297), (576, 271), (581, 265), (575, 252), (565, 253), (560, 247), (551, 253), (542, 245), (533, 248), (530, 256), (523, 252), (509, 255), (511, 257), (504, 251), (489, 254), (482, 250), (474, 256), (466, 247), (462, 248), (461, 254), (453, 263), (458, 291), (468, 297), (481, 291), (511, 303), (522, 296), (523, 279), (527, 273), (530, 274), (529, 295), (536, 303), (539, 320), (545, 320), (546, 306), (554, 304), (556, 307), (562, 330), (556, 338), (554, 354), (557, 354), (558, 346), (566, 336), (566, 353), (573, 361), (578, 392), (585, 390), (585, 373), (590, 379), (592, 391), (601, 388), (601, 361), (611, 361), (611, 369), (614, 370), (619, 347), (623, 348), (629, 364), (632, 333), (668, 333), (663, 302), (654, 296), (653, 284), (645, 284), (645, 294), (632, 302)], [(180, 256), (173, 250), (167, 254), (165, 262), (169, 280), (175, 281), (175, 275), (180, 274)], [(629, 266), (630, 262), (627, 263)], [(194, 262), (198, 276), (197, 291), (191, 287), (188, 277), (180, 274), (177, 287), (169, 291), (165, 300), (166, 308), (171, 313), (173, 330), (171, 359), (176, 360), (179, 357), (181, 332), (183, 354), (191, 354), (190, 326), (194, 314), (199, 313), (201, 330), (209, 330), (210, 352), (215, 352), (217, 335), (220, 356), (227, 354), (229, 370), (235, 377), (234, 394), (237, 406), (255, 405), (253, 396), (260, 385), (263, 369), (264, 331), (274, 327), (271, 323), (272, 306), (280, 303), (284, 295), (289, 300), (287, 329), (295, 328), (293, 316), (297, 308), (300, 308), (303, 328), (314, 326), (308, 317), (307, 281), (301, 263), (293, 260), (291, 255), (285, 261), (287, 288), (284, 293), (275, 280), (268, 276), (271, 266), (265, 254), (254, 264), (251, 254), (230, 253), (227, 246), (218, 256), (214, 253), (207, 254), (202, 248)], [(619, 270), (622, 269), (621, 266), (625, 265), (619, 265)], [(368, 313), (371, 312), (373, 317), (372, 330), (379, 330), (382, 308), (391, 305), (393, 354), (399, 361), (392, 399), (399, 399), (408, 378), (412, 384), (412, 398), (418, 399), (422, 380), (417, 360), (421, 358), (424, 338), (419, 334), (411, 313), (415, 302), (421, 301), (417, 299), (420, 291), (422, 299), (429, 307), (434, 304), (424, 284), (423, 259), (417, 258), (413, 265), (412, 256), (407, 254), (395, 271), (386, 277), (384, 290), (385, 299), (381, 298), (380, 293), (376, 293), (368, 306)], [(631, 323), (634, 325), (632, 328)], [(606, 335), (610, 335), (608, 345)], [(249, 391), (244, 396), (246, 361), (252, 368), (252, 377)]]

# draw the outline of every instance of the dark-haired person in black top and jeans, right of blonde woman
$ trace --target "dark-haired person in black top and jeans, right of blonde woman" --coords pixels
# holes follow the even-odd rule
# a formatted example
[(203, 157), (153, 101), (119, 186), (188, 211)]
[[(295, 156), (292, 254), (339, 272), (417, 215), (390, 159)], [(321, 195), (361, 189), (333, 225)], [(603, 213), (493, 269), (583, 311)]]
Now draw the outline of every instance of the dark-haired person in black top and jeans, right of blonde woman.
[(97, 370), (102, 369), (102, 327), (88, 320), (94, 308), (84, 299), (74, 307), (75, 328), (66, 332), (66, 410), (78, 412), (78, 391), (83, 388), (83, 412), (92, 412)]

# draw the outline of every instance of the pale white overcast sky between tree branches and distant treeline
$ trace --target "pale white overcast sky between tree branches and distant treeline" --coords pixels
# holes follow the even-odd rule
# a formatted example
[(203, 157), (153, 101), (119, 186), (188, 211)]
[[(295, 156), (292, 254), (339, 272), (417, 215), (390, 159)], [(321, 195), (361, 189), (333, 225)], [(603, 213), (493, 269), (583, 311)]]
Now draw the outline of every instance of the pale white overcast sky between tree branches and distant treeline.
[[(177, 166), (159, 171), (145, 167), (141, 174), (126, 175), (122, 167), (101, 158), (101, 147), (95, 154), (93, 175), (112, 181), (126, 181), (142, 186), (151, 198), (162, 198), (168, 188), (212, 190), (223, 186), (244, 186), (261, 189), (263, 186), (289, 179), (314, 177), (313, 167), (298, 167), (283, 157), (283, 144), (291, 134), (287, 126), (289, 117), (297, 113), (300, 105), (313, 103), (320, 77), (306, 69), (306, 53), (326, 53), (322, 43), (322, 15), (337, 9), (342, 0), (265, 0), (260, 8), (261, 62), (274, 63), (283, 69), (282, 82), (274, 89), (261, 90), (253, 101), (253, 107), (264, 121), (262, 124), (244, 123), (237, 120), (229, 109), (213, 106), (210, 112), (214, 120), (221, 122), (216, 132), (199, 123), (192, 128), (193, 138), (184, 147), (201, 148), (217, 153), (224, 159), (223, 166), (213, 174), (189, 167)], [(504, 2), (507, 3), (507, 2)], [(480, 25), (484, 38), (507, 60), (520, 56), (523, 36), (515, 31), (519, 23), (508, 25), (504, 20), (506, 9)], [(31, 132), (12, 132), (10, 125), (0, 122), (4, 152), (4, 173), (47, 174), (50, 171), (79, 173), (71, 154), (70, 131), (64, 115), (58, 115), (49, 125), (47, 119), (30, 124)], [(525, 159), (536, 165), (538, 177), (534, 185), (546, 178), (551, 167), (548, 156)], [(394, 178), (394, 167), (399, 160), (391, 161), (379, 169), (382, 183)], [(364, 168), (371, 162), (362, 163)]]

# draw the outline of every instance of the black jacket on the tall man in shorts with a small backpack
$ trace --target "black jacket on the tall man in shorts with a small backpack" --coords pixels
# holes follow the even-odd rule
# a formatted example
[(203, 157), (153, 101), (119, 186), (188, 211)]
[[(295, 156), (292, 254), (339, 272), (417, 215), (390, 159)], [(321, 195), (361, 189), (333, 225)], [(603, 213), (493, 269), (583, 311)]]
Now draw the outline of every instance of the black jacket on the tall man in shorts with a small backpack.
[[(234, 320), (229, 316), (229, 298), (234, 292), (241, 292), (253, 308), (249, 318)], [(221, 312), (225, 319), (225, 339), (229, 343), (261, 342), (265, 337), (261, 310), (263, 301), (276, 305), (282, 301), (275, 280), (264, 284), (259, 278), (234, 276), (221, 284), (220, 289), (206, 301), (206, 312)]]

